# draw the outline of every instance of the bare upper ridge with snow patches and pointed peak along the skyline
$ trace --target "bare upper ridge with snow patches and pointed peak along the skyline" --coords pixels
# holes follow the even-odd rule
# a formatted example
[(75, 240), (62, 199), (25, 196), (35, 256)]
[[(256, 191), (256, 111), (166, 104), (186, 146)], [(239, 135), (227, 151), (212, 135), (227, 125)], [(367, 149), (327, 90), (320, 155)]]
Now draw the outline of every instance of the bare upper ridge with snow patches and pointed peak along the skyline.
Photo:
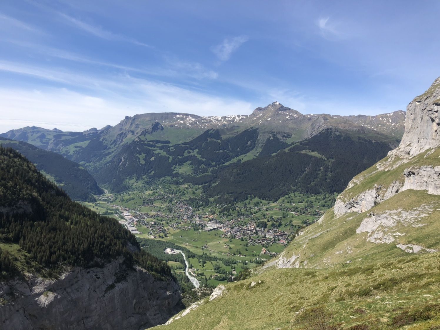
[[(189, 140), (212, 128), (245, 130), (248, 128), (269, 128), (280, 132), (293, 132), (297, 140), (309, 138), (323, 128), (337, 127), (359, 129), (360, 126), (376, 130), (400, 139), (404, 131), (405, 112), (394, 111), (377, 116), (339, 116), (330, 114), (301, 114), (297, 110), (274, 102), (265, 107), (256, 108), (250, 115), (229, 115), (201, 117), (186, 113), (147, 113), (126, 116), (115, 126), (107, 125), (102, 129), (91, 128), (84, 132), (62, 132), (56, 128), (50, 130), (36, 126), (18, 128), (0, 134), (8, 139), (32, 143), (45, 150), (62, 150), (66, 145), (83, 143), (94, 138), (103, 139), (110, 145), (128, 142), (144, 129), (159, 122), (164, 130), (158, 139), (168, 139), (171, 143)], [(168, 131), (185, 130), (179, 136)]]

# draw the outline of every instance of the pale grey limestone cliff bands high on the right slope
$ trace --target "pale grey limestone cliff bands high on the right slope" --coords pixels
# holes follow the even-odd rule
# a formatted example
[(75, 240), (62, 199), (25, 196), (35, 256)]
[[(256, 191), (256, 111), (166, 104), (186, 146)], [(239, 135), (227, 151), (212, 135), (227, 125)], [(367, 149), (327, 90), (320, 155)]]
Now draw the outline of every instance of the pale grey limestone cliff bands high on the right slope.
[[(404, 164), (404, 169), (397, 180), (389, 185), (375, 183), (374, 187), (362, 191), (356, 196), (342, 193), (338, 196), (334, 214), (341, 217), (348, 212), (362, 213), (375, 205), (391, 198), (400, 191), (407, 189), (427, 190), (429, 194), (440, 194), (440, 167), (433, 165), (411, 164), (419, 154), (431, 150), (425, 155), (440, 147), (440, 77), (437, 78), (429, 89), (414, 98), (407, 106), (405, 133), (399, 147), (388, 154), (385, 161), (379, 162), (377, 171), (391, 171)], [(371, 174), (374, 174), (371, 173)], [(367, 177), (360, 175), (348, 183), (349, 189), (362, 184)]]

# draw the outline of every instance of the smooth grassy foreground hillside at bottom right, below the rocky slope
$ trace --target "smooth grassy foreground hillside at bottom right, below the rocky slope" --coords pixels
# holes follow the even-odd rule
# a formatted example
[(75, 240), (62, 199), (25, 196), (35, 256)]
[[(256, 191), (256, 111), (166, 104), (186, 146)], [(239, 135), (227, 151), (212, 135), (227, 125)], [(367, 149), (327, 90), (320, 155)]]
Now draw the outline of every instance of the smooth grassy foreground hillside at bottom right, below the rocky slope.
[(439, 262), (438, 253), (402, 252), (327, 269), (273, 269), (154, 329), (438, 329)]

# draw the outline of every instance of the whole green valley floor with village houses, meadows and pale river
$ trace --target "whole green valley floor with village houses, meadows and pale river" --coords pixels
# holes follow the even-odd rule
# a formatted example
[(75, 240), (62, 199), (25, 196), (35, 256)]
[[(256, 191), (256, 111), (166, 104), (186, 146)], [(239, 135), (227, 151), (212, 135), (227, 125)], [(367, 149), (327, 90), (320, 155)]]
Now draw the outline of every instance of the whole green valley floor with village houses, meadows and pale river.
[[(96, 202), (84, 204), (116, 217), (144, 244), (162, 242), (165, 248), (187, 249), (190, 271), (203, 285), (216, 286), (281, 253), (302, 228), (322, 216), (335, 198), (291, 193), (276, 202), (249, 198), (218, 205), (202, 200), (198, 189), (168, 184), (145, 191), (103, 194)], [(169, 260), (164, 250), (157, 257)], [(168, 263), (175, 273), (183, 274), (183, 262)]]

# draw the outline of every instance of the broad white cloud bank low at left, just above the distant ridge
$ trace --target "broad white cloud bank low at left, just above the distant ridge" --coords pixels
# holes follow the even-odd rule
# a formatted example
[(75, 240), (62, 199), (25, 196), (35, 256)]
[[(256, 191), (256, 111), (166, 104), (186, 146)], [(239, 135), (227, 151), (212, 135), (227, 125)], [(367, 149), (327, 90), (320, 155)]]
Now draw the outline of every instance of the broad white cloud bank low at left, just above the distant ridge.
[[(95, 77), (67, 70), (0, 62), (0, 70), (62, 82), (66, 88), (0, 88), (7, 118), (0, 132), (39, 122), (45, 128), (84, 130), (115, 125), (126, 115), (186, 112), (198, 115), (248, 114), (249, 103), (128, 74)], [(78, 89), (78, 87), (80, 89)], [(86, 92), (75, 92), (72, 89)], [(56, 122), (54, 121), (56, 114)]]

